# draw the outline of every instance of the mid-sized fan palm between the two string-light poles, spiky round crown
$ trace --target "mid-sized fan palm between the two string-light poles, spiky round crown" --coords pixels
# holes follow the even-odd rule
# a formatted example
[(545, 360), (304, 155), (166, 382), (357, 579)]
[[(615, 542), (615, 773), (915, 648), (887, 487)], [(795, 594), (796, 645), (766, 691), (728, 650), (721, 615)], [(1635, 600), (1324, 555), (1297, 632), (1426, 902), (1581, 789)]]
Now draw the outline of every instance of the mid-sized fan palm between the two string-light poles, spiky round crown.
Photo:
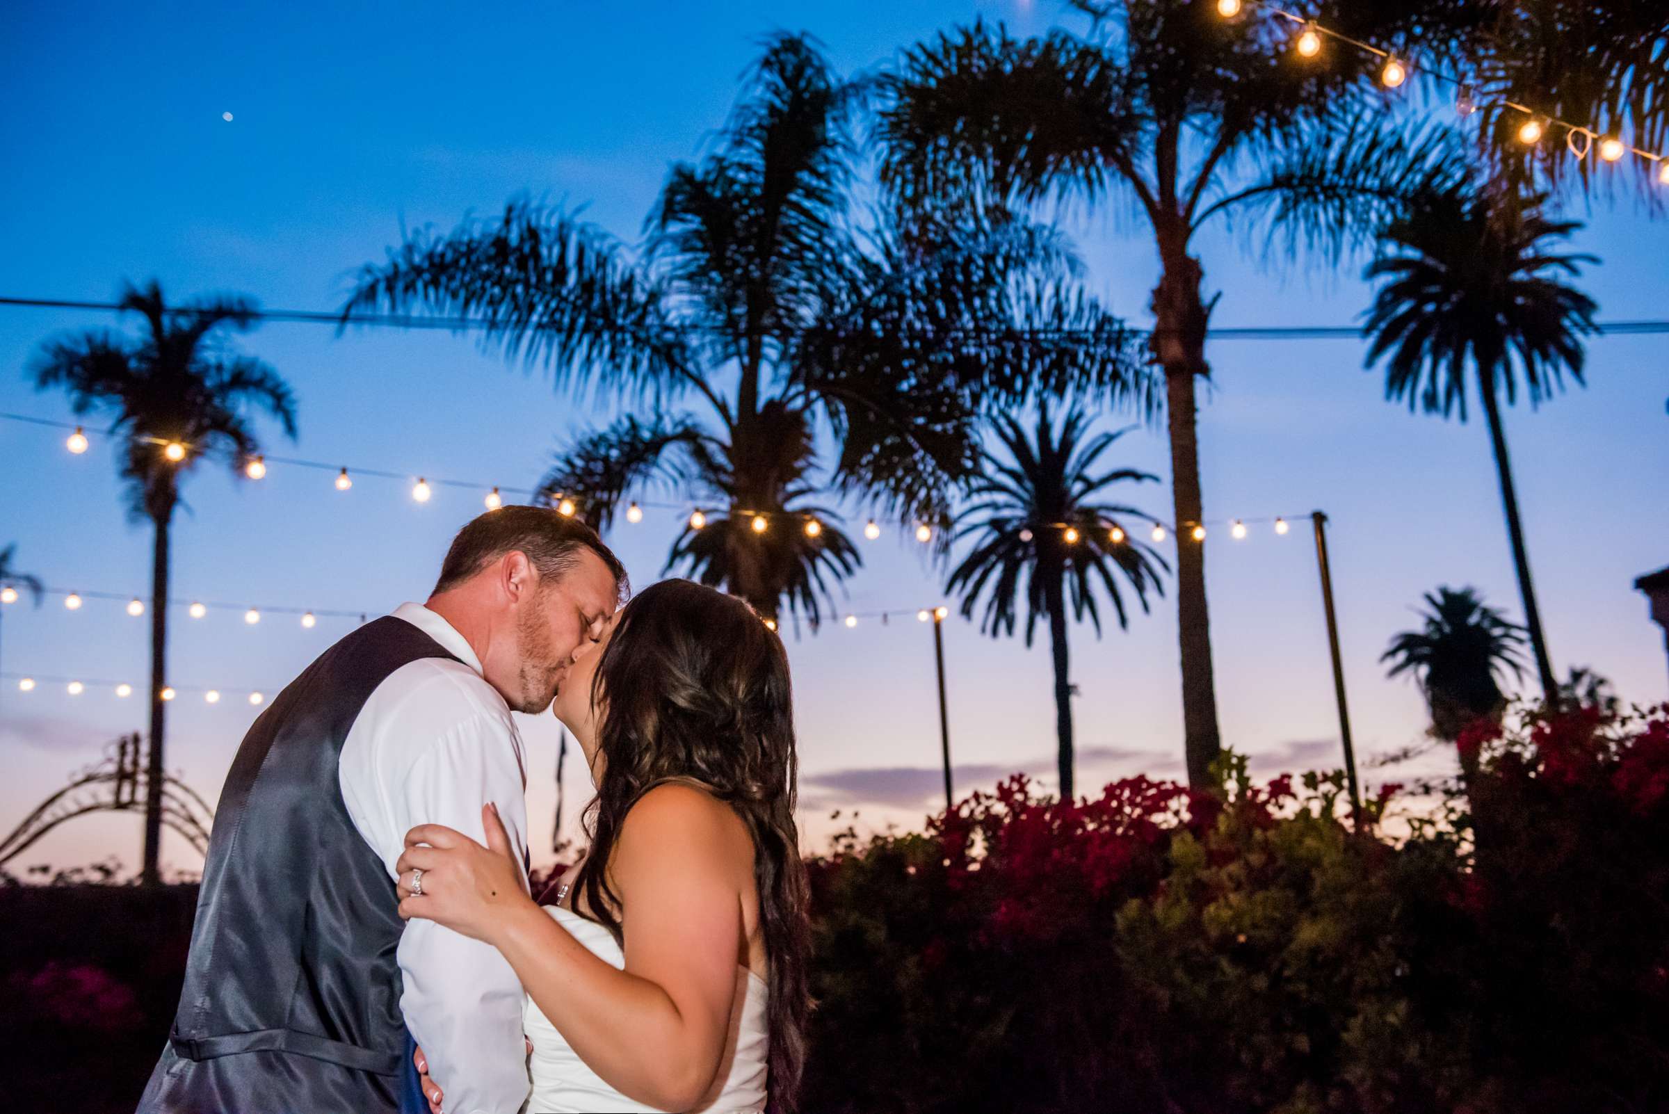
[(1008, 459), (986, 454), (985, 469), (970, 489), (973, 502), (956, 517), (958, 539), (973, 539), (973, 545), (945, 585), (961, 595), (961, 614), (966, 617), (973, 615), (980, 595), (990, 589), (980, 629), (991, 637), (1013, 635), (1021, 594), (1026, 645), (1031, 645), (1038, 617), (1048, 619), (1063, 802), (1075, 799), (1068, 602), (1070, 619), (1083, 622), (1088, 615), (1100, 637), (1097, 595), (1105, 590), (1118, 627), (1127, 630), (1130, 614), (1118, 587), (1120, 577), (1135, 590), (1145, 612), (1148, 589), (1162, 595), (1160, 572), (1167, 570), (1163, 557), (1137, 542), (1127, 529), (1135, 519), (1153, 519), (1135, 507), (1097, 499), (1115, 484), (1158, 477), (1135, 469), (1095, 472), (1095, 462), (1128, 430), (1085, 440), (1088, 424), (1088, 415), (1073, 409), (1055, 429), (1046, 405), (1040, 407), (1030, 435), (1013, 417), (996, 419), (995, 434)]

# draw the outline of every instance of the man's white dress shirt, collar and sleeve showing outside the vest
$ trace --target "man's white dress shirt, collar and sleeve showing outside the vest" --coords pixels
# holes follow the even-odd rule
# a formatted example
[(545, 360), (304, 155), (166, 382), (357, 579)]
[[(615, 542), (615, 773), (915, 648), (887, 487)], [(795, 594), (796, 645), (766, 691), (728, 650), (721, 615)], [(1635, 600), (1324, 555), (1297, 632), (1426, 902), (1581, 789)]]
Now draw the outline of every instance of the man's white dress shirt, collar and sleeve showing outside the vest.
[[(509, 705), (452, 624), (421, 604), (401, 604), (394, 615), (459, 660), (409, 662), (366, 700), (337, 767), (354, 827), (396, 877), (409, 829), (446, 824), (481, 841), (481, 805), (491, 800), (521, 864), (526, 774)], [(529, 1089), (522, 987), (504, 956), (432, 921), (409, 921), (397, 957), (401, 1011), (446, 1091), (447, 1114), (521, 1109)]]

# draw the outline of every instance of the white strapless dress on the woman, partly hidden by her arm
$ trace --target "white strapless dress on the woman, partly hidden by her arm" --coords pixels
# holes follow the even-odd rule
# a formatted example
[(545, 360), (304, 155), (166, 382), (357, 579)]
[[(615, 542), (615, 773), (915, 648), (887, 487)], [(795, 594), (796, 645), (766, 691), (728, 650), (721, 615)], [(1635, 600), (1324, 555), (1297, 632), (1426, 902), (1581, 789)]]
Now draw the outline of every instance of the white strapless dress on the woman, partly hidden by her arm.
[[(576, 912), (546, 906), (546, 912), (567, 929), (586, 949), (624, 969), (626, 956), (619, 944), (596, 921), (586, 921)], [(724, 1059), (713, 1079), (708, 1096), (691, 1107), (704, 1114), (759, 1114), (764, 1111), (766, 1049), (766, 986), (764, 979), (741, 964), (736, 966), (736, 1006), (731, 1009), (729, 1039), (724, 1042)], [(546, 1019), (544, 1012), (527, 999), (522, 1017), (527, 1039), (532, 1041), (532, 1057), (527, 1069), (532, 1076), (532, 1094), (527, 1114), (616, 1114), (624, 1111), (654, 1111), (656, 1107), (633, 1102), (624, 1094), (603, 1082), (603, 1077), (574, 1056), (562, 1034)], [(658, 1112), (668, 1114), (668, 1112)]]

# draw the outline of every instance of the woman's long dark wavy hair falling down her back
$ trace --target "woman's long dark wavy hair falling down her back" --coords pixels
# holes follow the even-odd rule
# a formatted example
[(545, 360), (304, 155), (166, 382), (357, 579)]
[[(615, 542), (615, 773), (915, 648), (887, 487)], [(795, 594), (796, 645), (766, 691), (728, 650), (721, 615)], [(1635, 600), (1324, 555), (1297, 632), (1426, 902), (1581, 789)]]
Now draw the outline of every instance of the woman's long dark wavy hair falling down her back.
[(609, 856), (626, 814), (666, 782), (699, 782), (753, 836), (769, 977), (773, 1111), (789, 1111), (806, 1061), (808, 882), (794, 827), (798, 759), (783, 642), (748, 604), (689, 580), (649, 585), (621, 612), (591, 687), (603, 775), (586, 809), (591, 851), (576, 889), (623, 942)]

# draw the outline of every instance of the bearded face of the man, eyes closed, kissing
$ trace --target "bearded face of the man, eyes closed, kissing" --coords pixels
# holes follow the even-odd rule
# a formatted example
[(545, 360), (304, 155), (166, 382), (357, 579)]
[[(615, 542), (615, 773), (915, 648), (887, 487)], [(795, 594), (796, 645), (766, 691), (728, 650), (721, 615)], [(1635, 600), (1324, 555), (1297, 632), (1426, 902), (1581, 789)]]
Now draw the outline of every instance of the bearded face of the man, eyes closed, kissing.
[(516, 619), (519, 670), (512, 709), (537, 715), (551, 707), (557, 677), (603, 637), (618, 592), (609, 567), (589, 549), (559, 579), (539, 585)]

